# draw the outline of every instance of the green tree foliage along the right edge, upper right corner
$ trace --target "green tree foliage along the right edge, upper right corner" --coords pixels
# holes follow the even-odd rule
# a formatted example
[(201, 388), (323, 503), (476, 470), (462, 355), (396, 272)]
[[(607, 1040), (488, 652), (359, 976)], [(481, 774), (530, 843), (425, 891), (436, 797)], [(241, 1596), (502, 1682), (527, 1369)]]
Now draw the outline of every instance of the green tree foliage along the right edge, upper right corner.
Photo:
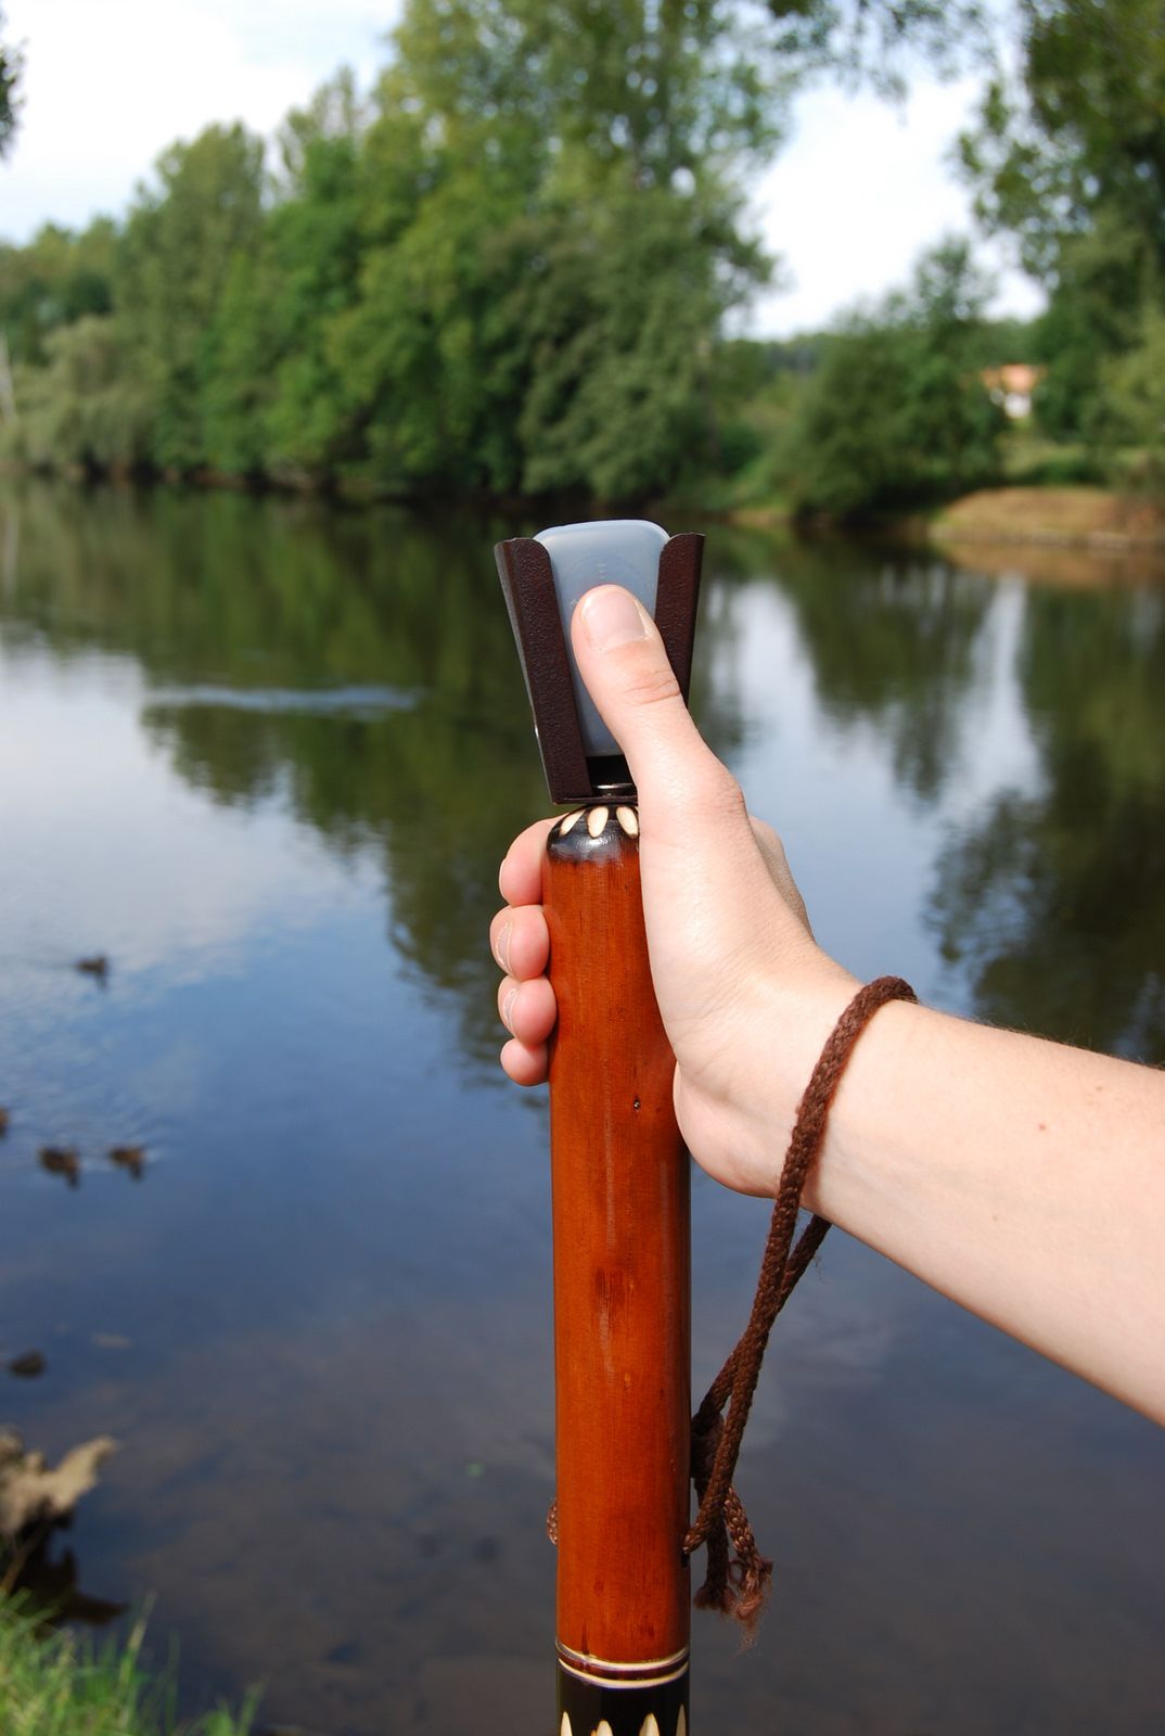
[(1111, 464), (1129, 422), (1113, 392), (1165, 307), (1165, 5), (1019, 0), (1017, 21), (1017, 71), (990, 85), (964, 168), (1049, 288), (1040, 427)]

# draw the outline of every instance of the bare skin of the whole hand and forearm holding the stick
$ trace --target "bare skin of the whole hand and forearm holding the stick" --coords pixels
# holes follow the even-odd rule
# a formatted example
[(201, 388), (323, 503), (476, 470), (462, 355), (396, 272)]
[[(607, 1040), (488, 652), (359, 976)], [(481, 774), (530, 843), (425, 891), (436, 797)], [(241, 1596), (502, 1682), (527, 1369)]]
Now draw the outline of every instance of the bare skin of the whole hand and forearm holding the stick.
[[(578, 667), (639, 790), (648, 953), (691, 1154), (771, 1196), (858, 979), (813, 939), (776, 833), (700, 738), (651, 618), (589, 592)], [(502, 1066), (547, 1076), (542, 861), (500, 871)], [(894, 1002), (861, 1036), (804, 1203), (964, 1307), (1165, 1422), (1165, 1073)]]

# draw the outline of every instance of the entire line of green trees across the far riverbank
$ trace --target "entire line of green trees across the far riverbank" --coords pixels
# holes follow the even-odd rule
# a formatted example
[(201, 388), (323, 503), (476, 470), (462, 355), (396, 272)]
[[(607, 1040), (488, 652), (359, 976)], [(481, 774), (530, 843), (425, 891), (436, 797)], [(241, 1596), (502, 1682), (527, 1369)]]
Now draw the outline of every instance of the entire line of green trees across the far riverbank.
[[(408, 0), (370, 95), (342, 71), (273, 149), (207, 127), (122, 219), (0, 247), (3, 451), (847, 516), (997, 479), (981, 373), (1031, 361), (1049, 439), (1160, 486), (1165, 0), (1007, 14), (1014, 69), (960, 158), (1047, 288), (1030, 328), (984, 318), (990, 285), (946, 241), (828, 333), (724, 335), (771, 273), (741, 187), (800, 83), (892, 92), (918, 57), (990, 56), (991, 28), (976, 0)], [(19, 78), (0, 49), (0, 149)]]

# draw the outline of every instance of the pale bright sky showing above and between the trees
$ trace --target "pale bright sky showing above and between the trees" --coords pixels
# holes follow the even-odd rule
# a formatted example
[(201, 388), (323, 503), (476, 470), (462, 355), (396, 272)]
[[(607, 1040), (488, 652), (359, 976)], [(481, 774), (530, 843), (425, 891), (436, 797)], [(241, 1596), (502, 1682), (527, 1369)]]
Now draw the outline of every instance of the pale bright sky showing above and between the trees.
[[(368, 87), (384, 64), (396, 0), (0, 0), (24, 45), (26, 102), (0, 163), (0, 236), (43, 222), (118, 215), (158, 153), (214, 120), (271, 134), (339, 66)], [(976, 82), (920, 76), (891, 106), (826, 83), (793, 108), (792, 137), (752, 189), (752, 217), (781, 257), (781, 290), (745, 330), (787, 337), (826, 325), (910, 276), (918, 252), (971, 229), (946, 163)], [(1002, 253), (995, 312), (1031, 314), (1033, 285)]]

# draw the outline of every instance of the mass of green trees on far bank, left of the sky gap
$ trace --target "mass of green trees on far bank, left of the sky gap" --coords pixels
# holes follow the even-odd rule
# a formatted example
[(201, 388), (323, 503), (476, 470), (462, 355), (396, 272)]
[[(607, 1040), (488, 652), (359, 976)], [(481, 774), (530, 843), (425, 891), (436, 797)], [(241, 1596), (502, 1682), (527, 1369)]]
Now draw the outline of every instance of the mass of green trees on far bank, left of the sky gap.
[[(766, 274), (731, 191), (790, 83), (757, 26), (759, 0), (410, 0), (372, 104), (337, 75), (269, 177), (241, 127), (167, 151), (89, 299), (95, 234), (10, 252), (24, 450), (384, 493), (674, 484)], [(52, 339), (106, 312), (116, 377), (95, 328)]]

